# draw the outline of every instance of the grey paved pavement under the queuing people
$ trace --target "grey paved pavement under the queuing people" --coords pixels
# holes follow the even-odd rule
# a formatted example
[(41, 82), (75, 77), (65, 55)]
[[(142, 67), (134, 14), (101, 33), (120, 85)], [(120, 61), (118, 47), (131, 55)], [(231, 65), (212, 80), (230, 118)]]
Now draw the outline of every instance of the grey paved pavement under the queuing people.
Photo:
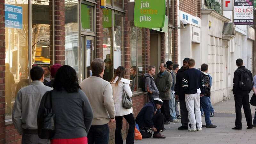
[[(252, 96), (252, 92), (250, 93)], [(181, 123), (171, 123), (164, 125), (165, 131), (162, 132), (166, 139), (142, 139), (135, 140), (137, 144), (256, 144), (256, 128), (247, 130), (247, 124), (242, 108), (242, 130), (232, 130), (235, 127), (235, 102), (234, 96), (230, 100), (223, 100), (213, 105), (216, 113), (210, 117), (212, 124), (217, 128), (202, 128), (202, 132), (188, 132), (178, 130)], [(254, 118), (255, 107), (251, 106), (252, 119)], [(179, 119), (180, 120), (180, 119)], [(202, 122), (205, 124), (204, 117)]]

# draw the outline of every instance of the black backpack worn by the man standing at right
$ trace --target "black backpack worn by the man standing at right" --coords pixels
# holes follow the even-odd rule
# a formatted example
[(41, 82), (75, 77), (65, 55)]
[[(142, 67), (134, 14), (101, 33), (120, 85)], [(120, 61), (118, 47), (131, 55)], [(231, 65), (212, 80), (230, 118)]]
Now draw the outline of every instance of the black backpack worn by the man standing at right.
[(242, 69), (238, 69), (239, 71), (241, 71), (241, 77), (239, 80), (239, 88), (241, 88), (244, 91), (249, 91), (252, 90), (253, 87), (253, 79), (252, 79), (252, 73), (248, 70), (242, 70)]

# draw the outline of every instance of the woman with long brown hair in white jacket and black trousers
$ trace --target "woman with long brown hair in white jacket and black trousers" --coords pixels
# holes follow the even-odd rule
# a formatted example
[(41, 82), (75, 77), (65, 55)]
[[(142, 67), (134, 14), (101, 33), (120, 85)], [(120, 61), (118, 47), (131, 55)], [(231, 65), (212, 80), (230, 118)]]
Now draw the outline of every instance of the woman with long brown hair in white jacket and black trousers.
[(130, 89), (130, 80), (125, 79), (126, 69), (122, 66), (119, 66), (116, 69), (114, 78), (110, 81), (110, 84), (113, 89), (113, 97), (115, 102), (115, 109), (116, 109), (116, 144), (123, 144), (122, 139), (122, 125), (123, 125), (123, 117), (129, 124), (129, 130), (126, 137), (126, 144), (133, 144), (134, 143), (134, 129), (135, 129), (135, 120), (132, 115), (133, 110), (125, 109), (122, 106), (122, 96), (123, 96), (123, 84), (124, 84), (124, 91), (126, 92), (127, 96), (132, 97), (132, 91)]

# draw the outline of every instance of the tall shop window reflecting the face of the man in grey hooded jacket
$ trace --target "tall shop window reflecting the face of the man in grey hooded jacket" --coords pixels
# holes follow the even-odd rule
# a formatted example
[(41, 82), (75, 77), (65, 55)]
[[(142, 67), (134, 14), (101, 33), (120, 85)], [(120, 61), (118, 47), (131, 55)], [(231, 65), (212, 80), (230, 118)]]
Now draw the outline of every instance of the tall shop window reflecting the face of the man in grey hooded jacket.
[(132, 92), (142, 88), (143, 58), (142, 51), (144, 47), (144, 29), (134, 26), (134, 22), (130, 21), (130, 80)]

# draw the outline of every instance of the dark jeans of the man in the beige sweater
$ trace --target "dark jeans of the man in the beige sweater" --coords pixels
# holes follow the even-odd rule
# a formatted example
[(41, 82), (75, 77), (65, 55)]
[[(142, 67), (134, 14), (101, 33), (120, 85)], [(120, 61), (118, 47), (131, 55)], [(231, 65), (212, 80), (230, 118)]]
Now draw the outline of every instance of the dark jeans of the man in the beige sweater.
[(108, 144), (109, 128), (108, 124), (92, 125), (88, 135), (88, 144)]

